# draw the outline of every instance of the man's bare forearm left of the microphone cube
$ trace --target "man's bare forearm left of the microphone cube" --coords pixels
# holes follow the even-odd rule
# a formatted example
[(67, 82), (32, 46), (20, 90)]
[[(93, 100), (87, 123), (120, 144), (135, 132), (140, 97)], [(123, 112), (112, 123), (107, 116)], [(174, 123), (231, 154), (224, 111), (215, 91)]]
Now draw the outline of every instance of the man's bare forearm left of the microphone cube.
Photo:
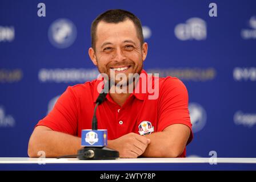
[(28, 154), (30, 157), (38, 157), (38, 151), (44, 151), (48, 158), (74, 155), (81, 148), (81, 138), (69, 134), (57, 131), (41, 131), (33, 135), (29, 142)]

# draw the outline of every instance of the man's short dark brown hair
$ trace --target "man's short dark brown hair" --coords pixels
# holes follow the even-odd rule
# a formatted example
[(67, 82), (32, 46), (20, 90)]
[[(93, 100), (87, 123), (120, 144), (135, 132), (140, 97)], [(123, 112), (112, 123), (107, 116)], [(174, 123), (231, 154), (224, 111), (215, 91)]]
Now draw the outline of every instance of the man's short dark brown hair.
[(137, 16), (129, 11), (116, 9), (105, 11), (104, 13), (98, 15), (97, 18), (93, 20), (93, 23), (91, 23), (91, 47), (93, 47), (95, 50), (96, 31), (99, 22), (103, 21), (106, 23), (119, 23), (125, 21), (126, 19), (130, 19), (134, 23), (137, 30), (137, 36), (142, 46), (144, 43), (144, 38), (142, 34), (141, 20), (139, 20)]

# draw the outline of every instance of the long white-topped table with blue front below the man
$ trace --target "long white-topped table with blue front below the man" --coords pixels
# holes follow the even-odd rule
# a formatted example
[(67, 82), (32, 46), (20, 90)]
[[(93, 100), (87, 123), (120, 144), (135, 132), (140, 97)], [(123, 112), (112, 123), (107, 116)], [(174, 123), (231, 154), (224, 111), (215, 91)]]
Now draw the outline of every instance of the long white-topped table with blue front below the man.
[(0, 158), (0, 170), (256, 170), (256, 158)]

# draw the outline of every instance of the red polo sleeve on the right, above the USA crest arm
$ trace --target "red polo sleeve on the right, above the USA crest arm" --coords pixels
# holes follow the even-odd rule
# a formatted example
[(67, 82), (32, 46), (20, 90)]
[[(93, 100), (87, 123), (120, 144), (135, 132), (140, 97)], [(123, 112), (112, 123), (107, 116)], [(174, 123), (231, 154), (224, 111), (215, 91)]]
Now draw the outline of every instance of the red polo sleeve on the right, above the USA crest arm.
[(190, 137), (187, 144), (193, 139), (192, 124), (189, 116), (189, 96), (186, 86), (175, 77), (166, 77), (159, 90), (159, 123), (158, 131), (167, 126), (183, 124), (190, 128)]

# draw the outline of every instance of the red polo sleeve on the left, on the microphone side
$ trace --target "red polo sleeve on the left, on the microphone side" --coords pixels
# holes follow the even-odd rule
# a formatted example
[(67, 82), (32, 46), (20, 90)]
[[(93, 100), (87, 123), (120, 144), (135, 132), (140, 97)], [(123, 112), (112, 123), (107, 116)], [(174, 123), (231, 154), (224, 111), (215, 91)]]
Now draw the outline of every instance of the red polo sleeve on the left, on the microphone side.
[(71, 86), (59, 97), (53, 110), (35, 126), (47, 126), (54, 131), (77, 135), (78, 97)]

